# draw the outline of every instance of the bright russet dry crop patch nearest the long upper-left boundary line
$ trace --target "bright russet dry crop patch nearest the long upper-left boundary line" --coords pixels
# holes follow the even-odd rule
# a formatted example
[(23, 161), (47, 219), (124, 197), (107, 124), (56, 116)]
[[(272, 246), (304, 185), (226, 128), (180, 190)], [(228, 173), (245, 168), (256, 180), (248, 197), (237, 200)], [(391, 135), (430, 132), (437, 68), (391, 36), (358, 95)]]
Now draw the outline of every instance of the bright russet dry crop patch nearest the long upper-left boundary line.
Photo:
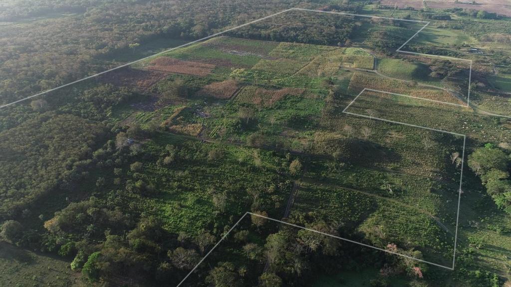
[(182, 61), (169, 57), (159, 57), (152, 60), (151, 65), (147, 68), (150, 70), (164, 71), (168, 73), (205, 77), (211, 74), (211, 71), (215, 68), (215, 65), (192, 61)]

